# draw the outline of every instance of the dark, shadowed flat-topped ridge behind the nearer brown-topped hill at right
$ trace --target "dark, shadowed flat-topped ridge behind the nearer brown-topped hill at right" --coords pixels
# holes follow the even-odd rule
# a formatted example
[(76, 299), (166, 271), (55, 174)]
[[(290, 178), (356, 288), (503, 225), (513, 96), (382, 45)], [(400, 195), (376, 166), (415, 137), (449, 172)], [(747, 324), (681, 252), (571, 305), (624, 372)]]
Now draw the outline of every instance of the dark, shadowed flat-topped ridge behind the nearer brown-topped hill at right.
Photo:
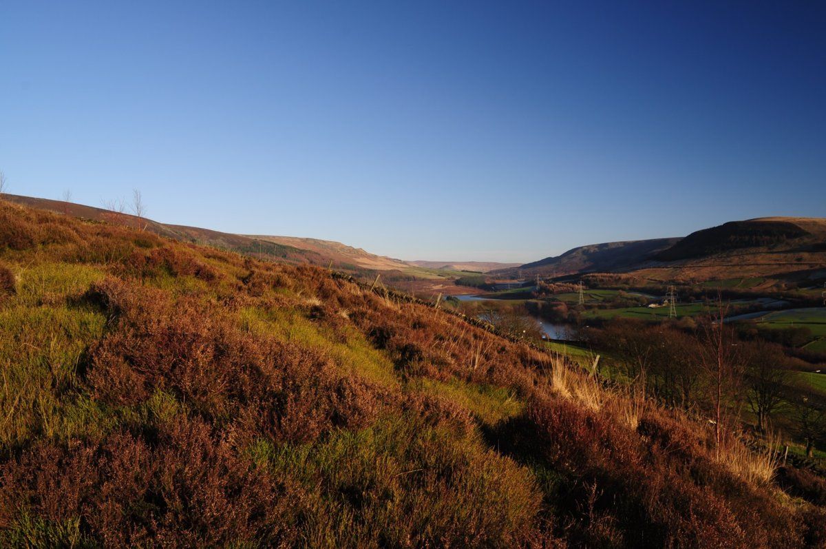
[(620, 270), (651, 260), (654, 254), (667, 250), (679, 238), (656, 238), (644, 241), (605, 242), (579, 246), (563, 255), (520, 265), (518, 269), (496, 271), (496, 274), (522, 276), (563, 276), (595, 271)]

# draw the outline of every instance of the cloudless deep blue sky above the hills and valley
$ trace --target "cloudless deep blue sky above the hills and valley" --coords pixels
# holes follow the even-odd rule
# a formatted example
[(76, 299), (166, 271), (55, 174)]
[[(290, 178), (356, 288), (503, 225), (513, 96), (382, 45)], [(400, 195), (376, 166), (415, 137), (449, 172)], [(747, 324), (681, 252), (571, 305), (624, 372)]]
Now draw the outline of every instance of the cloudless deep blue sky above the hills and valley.
[(826, 217), (826, 3), (0, 2), (12, 193), (538, 260)]

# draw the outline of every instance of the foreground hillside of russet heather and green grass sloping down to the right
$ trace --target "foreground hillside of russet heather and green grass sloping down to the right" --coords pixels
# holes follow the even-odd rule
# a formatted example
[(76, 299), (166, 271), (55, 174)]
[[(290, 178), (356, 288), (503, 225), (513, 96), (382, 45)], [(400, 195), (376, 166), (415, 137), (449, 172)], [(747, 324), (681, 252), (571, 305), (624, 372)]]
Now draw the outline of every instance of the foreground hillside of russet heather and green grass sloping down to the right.
[(2, 202), (0, 368), (2, 547), (826, 542), (823, 479), (783, 491), (771, 454), (563, 358), (314, 266)]

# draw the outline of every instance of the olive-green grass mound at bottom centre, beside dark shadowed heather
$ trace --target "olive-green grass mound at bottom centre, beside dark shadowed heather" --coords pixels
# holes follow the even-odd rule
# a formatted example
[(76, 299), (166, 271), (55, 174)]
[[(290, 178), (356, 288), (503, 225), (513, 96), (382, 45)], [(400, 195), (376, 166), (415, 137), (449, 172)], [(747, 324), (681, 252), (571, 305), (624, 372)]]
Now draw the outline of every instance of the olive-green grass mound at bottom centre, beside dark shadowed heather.
[(312, 444), (259, 440), (248, 451), (260, 467), (298, 480), (325, 517), (301, 525), (309, 547), (404, 547), (414, 532), (431, 547), (506, 547), (539, 507), (528, 469), (475, 433), (458, 437), (411, 417), (387, 416)]

